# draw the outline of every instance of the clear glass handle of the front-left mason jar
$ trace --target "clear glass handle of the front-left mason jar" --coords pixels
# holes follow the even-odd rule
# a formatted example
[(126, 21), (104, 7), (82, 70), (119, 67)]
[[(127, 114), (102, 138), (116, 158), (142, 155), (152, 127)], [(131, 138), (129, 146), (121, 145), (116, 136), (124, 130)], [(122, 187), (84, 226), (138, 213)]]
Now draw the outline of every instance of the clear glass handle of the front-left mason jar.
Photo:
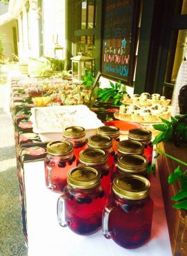
[(66, 208), (65, 208), (65, 200), (68, 197), (66, 194), (61, 194), (57, 201), (57, 218), (61, 227), (67, 227), (68, 223), (66, 221)]

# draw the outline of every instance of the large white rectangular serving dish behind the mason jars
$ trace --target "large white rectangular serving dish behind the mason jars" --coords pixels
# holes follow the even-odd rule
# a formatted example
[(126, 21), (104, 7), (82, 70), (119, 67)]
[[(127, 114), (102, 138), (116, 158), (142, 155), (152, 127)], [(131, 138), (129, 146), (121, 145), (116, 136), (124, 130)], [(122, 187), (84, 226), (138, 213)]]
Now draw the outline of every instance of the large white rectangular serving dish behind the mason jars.
[(61, 140), (66, 127), (81, 126), (86, 129), (88, 138), (104, 125), (86, 105), (33, 107), (31, 113), (33, 131), (39, 134), (43, 143)]

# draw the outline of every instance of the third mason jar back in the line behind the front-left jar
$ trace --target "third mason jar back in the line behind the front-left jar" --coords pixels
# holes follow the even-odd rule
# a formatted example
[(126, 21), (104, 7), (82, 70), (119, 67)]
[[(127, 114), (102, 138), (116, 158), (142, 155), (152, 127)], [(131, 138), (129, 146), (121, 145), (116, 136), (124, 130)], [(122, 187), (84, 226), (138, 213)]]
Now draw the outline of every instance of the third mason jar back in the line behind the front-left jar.
[(108, 155), (108, 165), (110, 172), (115, 170), (115, 152), (112, 148), (112, 139), (109, 136), (93, 135), (88, 138), (88, 147), (103, 149)]

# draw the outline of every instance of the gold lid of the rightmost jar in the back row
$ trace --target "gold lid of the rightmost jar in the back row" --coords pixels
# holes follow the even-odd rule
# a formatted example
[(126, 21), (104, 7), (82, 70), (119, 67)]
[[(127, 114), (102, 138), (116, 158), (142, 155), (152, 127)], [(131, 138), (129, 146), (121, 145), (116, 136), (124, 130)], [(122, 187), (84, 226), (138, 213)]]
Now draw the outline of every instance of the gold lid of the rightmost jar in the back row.
[(128, 131), (128, 138), (130, 140), (138, 141), (150, 141), (152, 138), (152, 132), (147, 129), (130, 129)]

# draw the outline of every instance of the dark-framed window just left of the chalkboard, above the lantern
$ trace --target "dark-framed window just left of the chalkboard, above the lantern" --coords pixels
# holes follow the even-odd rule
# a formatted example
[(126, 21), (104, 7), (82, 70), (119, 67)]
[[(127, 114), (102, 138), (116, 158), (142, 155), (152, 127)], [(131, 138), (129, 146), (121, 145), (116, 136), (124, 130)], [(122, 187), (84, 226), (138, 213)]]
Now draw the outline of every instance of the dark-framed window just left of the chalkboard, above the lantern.
[[(72, 55), (78, 53), (94, 58), (93, 70), (99, 71), (99, 59), (101, 56), (101, 1), (83, 0), (77, 1), (75, 10), (75, 48)], [(97, 51), (96, 51), (97, 48)], [(97, 62), (97, 67), (95, 63)]]

